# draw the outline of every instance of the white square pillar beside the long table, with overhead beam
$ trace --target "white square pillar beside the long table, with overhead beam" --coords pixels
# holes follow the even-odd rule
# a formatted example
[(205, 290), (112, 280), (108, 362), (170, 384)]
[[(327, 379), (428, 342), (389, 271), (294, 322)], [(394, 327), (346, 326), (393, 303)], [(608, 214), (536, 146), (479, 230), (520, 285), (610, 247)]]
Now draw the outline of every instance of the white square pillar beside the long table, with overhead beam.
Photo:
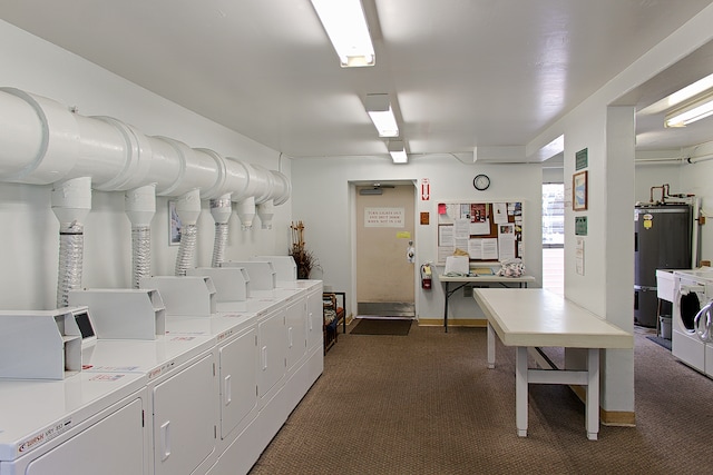
[[(651, 79), (660, 71), (675, 63), (713, 38), (709, 24), (713, 21), (713, 6), (704, 9), (700, 14), (676, 30), (673, 34), (654, 47), (642, 58), (613, 78), (605, 87), (590, 96), (582, 105), (567, 113), (561, 120), (549, 127), (533, 144), (548, 144), (554, 138), (565, 135), (565, 184), (572, 187), (572, 175), (575, 171), (574, 154), (583, 148), (589, 150), (589, 195), (590, 207), (588, 217), (589, 234), (585, 239), (585, 275), (575, 270), (576, 248), (574, 240), (574, 214), (565, 217), (565, 295), (592, 311), (612, 320), (623, 321), (624, 328), (633, 325), (633, 219), (634, 191), (631, 180), (607, 182), (613, 177), (616, 167), (628, 175), (626, 170), (634, 168), (632, 141), (631, 154), (624, 157), (608, 156), (611, 142), (607, 141), (607, 107), (623, 97), (626, 92)], [(631, 164), (617, 164), (615, 160), (627, 160)], [(682, 185), (683, 186), (683, 185)], [(638, 191), (637, 191), (638, 192)], [(607, 202), (617, 202), (618, 207)], [(631, 222), (632, 225), (626, 225)], [(607, 226), (615, 227), (607, 230)], [(631, 259), (622, 259), (619, 248), (612, 237), (621, 227), (621, 246), (632, 247)], [(631, 228), (631, 229), (629, 229)], [(608, 239), (608, 240), (607, 240)], [(608, 253), (608, 250), (612, 250)], [(618, 271), (616, 271), (618, 269)], [(627, 303), (617, 308), (608, 303)], [(631, 324), (629, 324), (631, 321)], [(603, 394), (602, 406), (608, 412), (634, 410), (634, 373), (633, 352), (605, 352), (603, 358)], [(621, 368), (625, 368), (621, 370)]]

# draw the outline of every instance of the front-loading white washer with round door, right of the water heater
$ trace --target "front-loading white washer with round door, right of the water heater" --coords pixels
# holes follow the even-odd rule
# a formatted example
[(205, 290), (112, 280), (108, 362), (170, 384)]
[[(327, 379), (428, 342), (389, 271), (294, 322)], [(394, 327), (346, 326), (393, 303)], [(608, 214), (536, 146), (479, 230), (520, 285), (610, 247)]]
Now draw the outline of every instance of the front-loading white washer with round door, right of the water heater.
[(713, 377), (713, 269), (674, 270), (671, 352)]

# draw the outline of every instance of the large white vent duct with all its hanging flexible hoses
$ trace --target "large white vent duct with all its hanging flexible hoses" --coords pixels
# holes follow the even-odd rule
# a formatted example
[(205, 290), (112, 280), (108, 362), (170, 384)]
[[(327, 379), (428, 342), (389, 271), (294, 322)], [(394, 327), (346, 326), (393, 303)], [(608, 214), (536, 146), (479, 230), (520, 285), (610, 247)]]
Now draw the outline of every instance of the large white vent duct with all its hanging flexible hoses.
[[(243, 228), (250, 229), (256, 207), (263, 228), (270, 228), (272, 206), (286, 202), (292, 191), (287, 178), (279, 171), (226, 158), (209, 149), (194, 149), (168, 137), (149, 137), (111, 117), (80, 116), (51, 99), (14, 88), (0, 88), (0, 181), (61, 182), (52, 190), (52, 209), (60, 220), (62, 241), (60, 306), (67, 304), (68, 289), (81, 281), (80, 248), (91, 188), (126, 192), (133, 224), (133, 286), (150, 269), (150, 219), (146, 218), (155, 212), (156, 195), (180, 197), (179, 202), (191, 196), (191, 208), (197, 207), (198, 212), (201, 199), (216, 200), (222, 211), (228, 209), (227, 216), (226, 205), (235, 201)], [(87, 187), (81, 198), (76, 197), (76, 188)], [(72, 204), (72, 198), (79, 202)], [(216, 232), (221, 236), (216, 236), (214, 264), (222, 260), (226, 243), (227, 221), (222, 211), (216, 219)], [(195, 210), (183, 212), (191, 215)], [(185, 274), (193, 259), (197, 232), (195, 219), (182, 217), (182, 220), (178, 275)]]

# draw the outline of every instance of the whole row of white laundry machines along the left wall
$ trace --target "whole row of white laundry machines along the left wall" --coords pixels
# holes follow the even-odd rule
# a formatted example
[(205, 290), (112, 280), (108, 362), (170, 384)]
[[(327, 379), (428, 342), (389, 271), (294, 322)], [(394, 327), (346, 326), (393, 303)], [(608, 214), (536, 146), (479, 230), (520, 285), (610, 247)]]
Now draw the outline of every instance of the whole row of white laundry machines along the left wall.
[(287, 286), (0, 382), (0, 475), (247, 473), (323, 369), (322, 283)]

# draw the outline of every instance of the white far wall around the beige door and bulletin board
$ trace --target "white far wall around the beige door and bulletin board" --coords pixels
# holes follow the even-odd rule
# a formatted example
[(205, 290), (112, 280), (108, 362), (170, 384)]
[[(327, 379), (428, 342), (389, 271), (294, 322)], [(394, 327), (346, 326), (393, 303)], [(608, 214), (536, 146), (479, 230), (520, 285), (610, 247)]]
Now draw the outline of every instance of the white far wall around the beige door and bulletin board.
[[(476, 191), (477, 174), (490, 176), (486, 191)], [(354, 269), (352, 266), (352, 231), (354, 219), (350, 201), (350, 182), (410, 180), (419, 186), (430, 181), (428, 201), (418, 199), (417, 217), (430, 214), (430, 225), (416, 220), (414, 246), (417, 263), (436, 261), (436, 238), (439, 201), (522, 201), (525, 211), (522, 240), (527, 273), (541, 285), (541, 167), (539, 165), (463, 164), (451, 155), (413, 156), (408, 165), (393, 165), (383, 157), (300, 158), (293, 160), (293, 216), (305, 224), (305, 240), (323, 268), (325, 286), (348, 291), (349, 305), (355, 314)], [(420, 189), (417, 188), (417, 195)], [(414, 281), (416, 285), (416, 281)], [(417, 288), (419, 318), (441, 318), (443, 291), (438, 281), (432, 290)], [(453, 295), (449, 318), (478, 318), (472, 298)], [(478, 314), (473, 314), (478, 311)]]

